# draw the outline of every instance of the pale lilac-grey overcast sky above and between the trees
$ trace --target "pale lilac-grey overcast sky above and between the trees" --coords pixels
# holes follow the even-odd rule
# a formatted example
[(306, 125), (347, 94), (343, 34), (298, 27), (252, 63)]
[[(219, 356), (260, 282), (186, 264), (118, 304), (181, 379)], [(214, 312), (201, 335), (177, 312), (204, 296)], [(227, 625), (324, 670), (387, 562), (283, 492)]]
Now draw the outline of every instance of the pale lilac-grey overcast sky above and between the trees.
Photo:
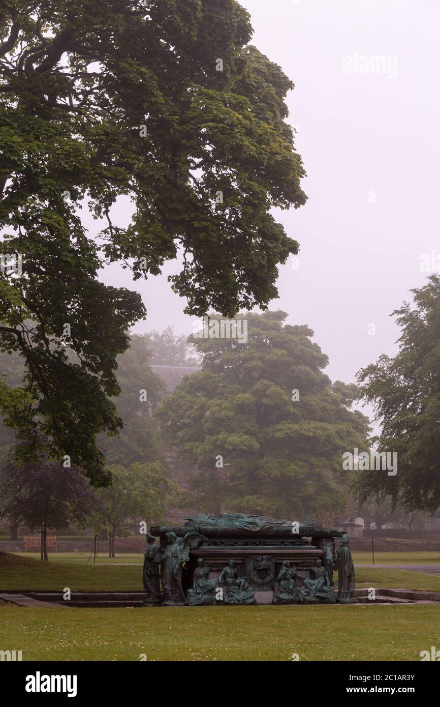
[[(389, 315), (426, 279), (422, 254), (440, 254), (440, 3), (242, 5), (253, 43), (295, 83), (289, 122), (308, 175), (306, 206), (275, 212), (301, 250), (299, 269), (292, 260), (280, 267), (270, 308), (314, 329), (330, 359), (326, 373), (352, 382), (360, 367), (396, 351)], [(173, 325), (190, 334), (194, 320), (167, 282), (179, 269), (168, 264), (162, 276), (133, 284), (114, 265), (102, 279), (141, 292), (148, 317), (136, 332)]]

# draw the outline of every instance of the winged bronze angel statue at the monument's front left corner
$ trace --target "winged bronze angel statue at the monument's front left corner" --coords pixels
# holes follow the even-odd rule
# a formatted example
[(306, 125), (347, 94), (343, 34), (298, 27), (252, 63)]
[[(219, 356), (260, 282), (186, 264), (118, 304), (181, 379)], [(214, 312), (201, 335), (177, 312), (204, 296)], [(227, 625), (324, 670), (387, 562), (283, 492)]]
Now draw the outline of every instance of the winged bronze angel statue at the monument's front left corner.
[(187, 532), (184, 537), (177, 537), (175, 532), (167, 532), (167, 547), (162, 555), (162, 588), (163, 604), (168, 607), (179, 607), (186, 604), (182, 589), (182, 572), (184, 563), (189, 561), (189, 553), (207, 540), (198, 532)]

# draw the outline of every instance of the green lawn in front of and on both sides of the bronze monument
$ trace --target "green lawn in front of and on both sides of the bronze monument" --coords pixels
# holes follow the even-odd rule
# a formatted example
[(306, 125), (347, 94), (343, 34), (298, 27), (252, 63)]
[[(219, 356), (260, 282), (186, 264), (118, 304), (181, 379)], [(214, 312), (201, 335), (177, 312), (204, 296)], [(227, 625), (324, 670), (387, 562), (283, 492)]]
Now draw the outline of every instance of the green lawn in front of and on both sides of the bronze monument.
[[(85, 558), (87, 559), (87, 558)], [(1, 590), (141, 590), (141, 566), (0, 554)], [(126, 556), (125, 561), (142, 559)], [(81, 563), (80, 563), (80, 560)], [(440, 577), (358, 568), (358, 587), (440, 591)], [(440, 645), (436, 604), (73, 609), (0, 602), (0, 646), (23, 660), (420, 660)]]

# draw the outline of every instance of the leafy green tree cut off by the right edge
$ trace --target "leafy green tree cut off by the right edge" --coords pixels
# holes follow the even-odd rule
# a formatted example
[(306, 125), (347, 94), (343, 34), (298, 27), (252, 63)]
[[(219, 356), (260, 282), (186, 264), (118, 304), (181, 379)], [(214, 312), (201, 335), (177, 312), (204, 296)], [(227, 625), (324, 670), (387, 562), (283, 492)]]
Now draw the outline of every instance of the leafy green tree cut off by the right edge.
[(411, 292), (412, 303), (391, 315), (401, 329), (398, 354), (382, 354), (359, 371), (381, 423), (373, 443), (380, 452), (397, 452), (397, 474), (362, 472), (355, 491), (361, 502), (389, 495), (402, 508), (434, 513), (440, 506), (440, 276)]

